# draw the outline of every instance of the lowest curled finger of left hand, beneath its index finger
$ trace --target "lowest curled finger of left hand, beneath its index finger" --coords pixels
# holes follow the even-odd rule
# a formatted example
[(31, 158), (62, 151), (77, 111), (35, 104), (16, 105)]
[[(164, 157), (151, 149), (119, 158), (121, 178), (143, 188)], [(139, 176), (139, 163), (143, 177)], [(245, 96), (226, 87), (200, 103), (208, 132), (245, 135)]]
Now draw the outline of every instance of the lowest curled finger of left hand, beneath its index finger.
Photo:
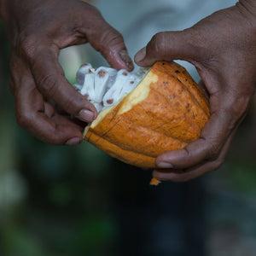
[(19, 82), (15, 90), (15, 112), (20, 126), (46, 143), (81, 143), (79, 126), (66, 117), (55, 115), (49, 104), (44, 104), (27, 68), (20, 66), (20, 70), (21, 74), (13, 73), (15, 84)]

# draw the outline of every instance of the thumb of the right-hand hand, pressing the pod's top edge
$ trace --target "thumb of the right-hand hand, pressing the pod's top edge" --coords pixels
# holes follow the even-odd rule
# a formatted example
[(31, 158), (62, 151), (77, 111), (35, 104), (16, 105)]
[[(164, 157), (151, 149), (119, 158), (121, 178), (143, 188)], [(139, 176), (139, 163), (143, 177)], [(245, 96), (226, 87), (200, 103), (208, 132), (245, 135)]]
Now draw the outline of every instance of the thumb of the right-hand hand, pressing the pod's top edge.
[(134, 60), (142, 67), (151, 66), (155, 61), (195, 60), (196, 47), (190, 38), (188, 30), (156, 33)]

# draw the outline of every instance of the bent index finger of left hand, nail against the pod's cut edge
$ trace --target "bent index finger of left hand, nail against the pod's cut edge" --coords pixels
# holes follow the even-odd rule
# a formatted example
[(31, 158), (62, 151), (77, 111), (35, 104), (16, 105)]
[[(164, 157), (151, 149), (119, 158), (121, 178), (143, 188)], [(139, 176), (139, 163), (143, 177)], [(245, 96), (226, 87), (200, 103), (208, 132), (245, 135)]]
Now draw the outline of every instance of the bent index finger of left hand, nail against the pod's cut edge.
[(31, 71), (38, 90), (67, 113), (84, 122), (96, 119), (96, 108), (68, 83), (57, 61), (58, 49), (40, 49), (32, 57)]

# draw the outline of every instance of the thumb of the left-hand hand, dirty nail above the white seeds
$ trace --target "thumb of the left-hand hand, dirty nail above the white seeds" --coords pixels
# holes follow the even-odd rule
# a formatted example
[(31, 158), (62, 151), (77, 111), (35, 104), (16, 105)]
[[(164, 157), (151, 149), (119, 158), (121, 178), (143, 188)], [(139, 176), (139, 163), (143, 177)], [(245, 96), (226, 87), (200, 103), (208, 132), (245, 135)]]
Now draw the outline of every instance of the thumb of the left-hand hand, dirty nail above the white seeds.
[(133, 69), (124, 38), (102, 18), (97, 10), (90, 16), (90, 20), (86, 19), (82, 24), (80, 32), (96, 50), (102, 53), (112, 67), (129, 71)]

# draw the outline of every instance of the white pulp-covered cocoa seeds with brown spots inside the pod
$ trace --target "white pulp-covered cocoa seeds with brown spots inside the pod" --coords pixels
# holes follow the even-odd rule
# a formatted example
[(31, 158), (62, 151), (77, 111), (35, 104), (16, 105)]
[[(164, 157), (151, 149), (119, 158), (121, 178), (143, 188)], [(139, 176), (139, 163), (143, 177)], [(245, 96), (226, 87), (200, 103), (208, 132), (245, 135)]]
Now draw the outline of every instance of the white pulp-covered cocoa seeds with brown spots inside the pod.
[(128, 72), (111, 67), (93, 68), (90, 63), (85, 63), (79, 67), (77, 84), (74, 84), (74, 87), (86, 96), (100, 113), (119, 103), (120, 99), (134, 90), (146, 73), (148, 68)]

